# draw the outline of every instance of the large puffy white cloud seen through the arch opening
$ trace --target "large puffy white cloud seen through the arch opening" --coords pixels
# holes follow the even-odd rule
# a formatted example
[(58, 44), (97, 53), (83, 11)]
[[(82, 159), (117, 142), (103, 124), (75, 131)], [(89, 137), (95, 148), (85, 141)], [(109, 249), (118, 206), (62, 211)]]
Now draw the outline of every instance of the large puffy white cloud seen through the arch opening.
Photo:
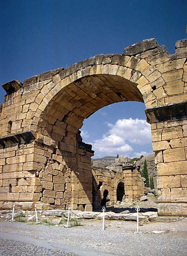
[(118, 119), (115, 124), (107, 123), (107, 126), (110, 128), (109, 131), (103, 134), (102, 139), (94, 140), (92, 144), (98, 157), (119, 154), (132, 158), (132, 155), (140, 157), (152, 154), (145, 151), (133, 152), (136, 151), (136, 145), (151, 144), (151, 128), (146, 120)]

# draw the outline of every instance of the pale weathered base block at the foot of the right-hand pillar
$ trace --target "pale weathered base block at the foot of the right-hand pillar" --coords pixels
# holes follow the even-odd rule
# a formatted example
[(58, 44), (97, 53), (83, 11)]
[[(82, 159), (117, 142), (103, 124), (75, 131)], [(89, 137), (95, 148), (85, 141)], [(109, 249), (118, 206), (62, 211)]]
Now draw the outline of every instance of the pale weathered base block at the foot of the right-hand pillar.
[(159, 216), (187, 216), (187, 204), (159, 203)]

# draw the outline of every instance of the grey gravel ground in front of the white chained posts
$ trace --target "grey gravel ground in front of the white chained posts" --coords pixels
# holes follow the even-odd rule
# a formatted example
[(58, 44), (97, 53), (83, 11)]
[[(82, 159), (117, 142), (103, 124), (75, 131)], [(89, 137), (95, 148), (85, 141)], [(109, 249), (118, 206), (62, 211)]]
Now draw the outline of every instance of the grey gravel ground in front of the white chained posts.
[[(26, 255), (22, 254), (20, 249), (22, 247), (20, 242), (24, 242), (26, 243), (25, 251), (28, 250), (27, 255), (33, 255), (33, 252), (30, 251), (31, 246), (27, 243), (39, 246), (33, 249), (36, 250), (35, 255), (37, 256), (48, 255), (47, 253), (50, 251), (47, 249), (54, 248), (58, 251), (52, 250), (50, 255), (186, 256), (187, 219), (172, 223), (144, 224), (139, 227), (138, 234), (134, 232), (136, 222), (105, 221), (106, 228), (103, 232), (101, 220), (82, 220), (81, 223), (83, 226), (64, 228), (63, 226), (3, 221), (0, 222), (0, 238), (19, 241), (17, 254), (9, 255)], [(152, 231), (163, 232), (155, 234)], [(11, 235), (15, 237), (11, 237)], [(37, 241), (39, 241), (38, 244)], [(14, 247), (12, 243), (14, 242), (8, 241), (8, 248)], [(1, 246), (5, 248), (5, 241), (1, 243)], [(41, 246), (47, 249), (42, 249)], [(66, 247), (66, 250), (63, 249), (63, 246)], [(77, 249), (75, 250), (75, 248)], [(23, 250), (24, 253), (25, 251)], [(63, 251), (74, 254), (65, 254), (67, 252)]]

